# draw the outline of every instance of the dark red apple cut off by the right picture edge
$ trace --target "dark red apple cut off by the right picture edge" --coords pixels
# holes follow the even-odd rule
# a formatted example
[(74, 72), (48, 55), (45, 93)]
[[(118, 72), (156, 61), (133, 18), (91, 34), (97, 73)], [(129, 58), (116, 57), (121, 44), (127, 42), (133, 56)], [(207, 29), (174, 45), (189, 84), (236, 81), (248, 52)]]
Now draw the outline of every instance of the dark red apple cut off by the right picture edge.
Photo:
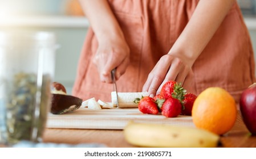
[(240, 110), (247, 129), (256, 135), (256, 85), (243, 91), (240, 98)]

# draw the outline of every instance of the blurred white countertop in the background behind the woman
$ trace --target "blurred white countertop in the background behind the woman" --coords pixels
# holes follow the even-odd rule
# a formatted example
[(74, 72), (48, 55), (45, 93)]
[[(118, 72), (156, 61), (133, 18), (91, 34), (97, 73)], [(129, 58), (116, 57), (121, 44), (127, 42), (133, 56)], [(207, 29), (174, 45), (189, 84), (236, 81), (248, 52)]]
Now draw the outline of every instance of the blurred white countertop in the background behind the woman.
[[(256, 30), (256, 17), (245, 18), (249, 30)], [(29, 26), (29, 27), (88, 27), (88, 19), (84, 16), (44, 15), (19, 16), (15, 18), (0, 17), (0, 27)]]

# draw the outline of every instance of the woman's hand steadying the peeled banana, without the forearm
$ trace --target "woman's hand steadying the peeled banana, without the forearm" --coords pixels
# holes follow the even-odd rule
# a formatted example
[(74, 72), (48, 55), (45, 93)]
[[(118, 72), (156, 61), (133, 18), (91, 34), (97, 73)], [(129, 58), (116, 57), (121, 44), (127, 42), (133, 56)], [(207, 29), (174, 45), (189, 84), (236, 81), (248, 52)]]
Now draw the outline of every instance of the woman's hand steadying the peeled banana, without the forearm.
[(191, 66), (188, 64), (190, 62), (182, 61), (179, 57), (169, 54), (162, 56), (155, 68), (149, 73), (143, 91), (148, 91), (153, 97), (160, 93), (162, 85), (167, 81), (183, 83), (188, 74), (192, 73)]

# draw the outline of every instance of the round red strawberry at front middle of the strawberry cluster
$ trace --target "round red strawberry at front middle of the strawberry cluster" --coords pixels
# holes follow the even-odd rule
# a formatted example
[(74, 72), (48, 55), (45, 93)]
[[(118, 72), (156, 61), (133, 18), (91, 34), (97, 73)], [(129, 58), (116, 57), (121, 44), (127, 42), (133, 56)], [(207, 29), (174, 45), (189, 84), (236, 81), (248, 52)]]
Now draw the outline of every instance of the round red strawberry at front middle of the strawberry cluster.
[(181, 113), (182, 105), (180, 101), (176, 98), (168, 98), (162, 104), (162, 115), (166, 116), (167, 118), (173, 118)]

